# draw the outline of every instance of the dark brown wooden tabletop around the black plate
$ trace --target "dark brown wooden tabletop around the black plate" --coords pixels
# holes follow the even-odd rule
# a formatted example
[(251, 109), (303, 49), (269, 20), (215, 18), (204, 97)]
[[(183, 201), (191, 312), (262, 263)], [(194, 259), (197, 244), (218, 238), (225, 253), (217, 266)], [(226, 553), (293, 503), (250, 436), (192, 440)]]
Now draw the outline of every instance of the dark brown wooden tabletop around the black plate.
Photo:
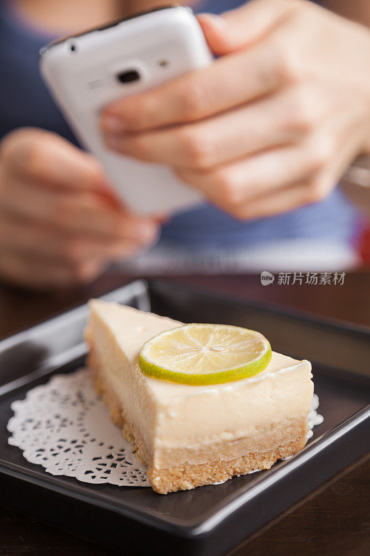
[[(259, 276), (177, 277), (176, 280), (208, 291), (288, 306), (326, 318), (370, 327), (370, 272), (347, 274), (342, 286), (305, 284), (261, 286)], [(129, 281), (118, 271), (108, 272), (85, 288), (59, 293), (30, 293), (0, 285), (0, 337), (40, 322), (49, 316), (96, 297)], [(307, 496), (253, 537), (233, 550), (234, 556), (323, 555), (357, 556), (370, 553), (370, 457), (345, 469), (321, 489)], [(24, 508), (20, 513), (1, 498), (0, 555), (115, 556), (107, 546), (97, 546), (60, 528), (36, 520)], [(129, 552), (120, 554), (129, 556)], [(164, 556), (167, 555), (163, 552)], [(175, 555), (174, 555), (175, 556)], [(191, 556), (191, 555), (190, 555)]]

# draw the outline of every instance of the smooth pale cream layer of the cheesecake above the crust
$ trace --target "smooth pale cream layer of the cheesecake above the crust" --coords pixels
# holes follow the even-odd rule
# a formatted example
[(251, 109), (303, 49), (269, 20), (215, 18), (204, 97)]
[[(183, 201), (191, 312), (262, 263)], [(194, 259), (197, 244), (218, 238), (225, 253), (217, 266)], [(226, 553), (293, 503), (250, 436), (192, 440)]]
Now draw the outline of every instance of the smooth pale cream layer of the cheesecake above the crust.
[(153, 452), (233, 441), (308, 416), (313, 394), (309, 361), (272, 352), (267, 368), (247, 379), (212, 386), (165, 382), (143, 375), (139, 354), (145, 341), (180, 322), (99, 300), (90, 302), (90, 309), (87, 334), (94, 334), (95, 319), (100, 334), (105, 331), (109, 338), (106, 351), (115, 344), (111, 357), (121, 357), (121, 364), (106, 359), (106, 366), (115, 369), (111, 383)]

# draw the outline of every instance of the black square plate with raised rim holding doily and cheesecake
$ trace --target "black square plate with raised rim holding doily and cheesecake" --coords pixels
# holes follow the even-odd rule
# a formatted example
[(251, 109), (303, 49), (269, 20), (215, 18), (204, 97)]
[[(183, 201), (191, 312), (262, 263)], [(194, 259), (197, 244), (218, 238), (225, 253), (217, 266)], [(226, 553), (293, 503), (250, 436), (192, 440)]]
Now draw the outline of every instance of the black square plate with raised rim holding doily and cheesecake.
[(370, 332), (263, 304), (203, 293), (171, 281), (135, 281), (103, 299), (183, 322), (260, 330), (274, 350), (312, 361), (319, 411), (314, 436), (269, 471), (224, 484), (157, 494), (148, 488), (53, 477), (8, 445), (10, 404), (53, 373), (83, 365), (81, 306), (0, 342), (0, 491), (9, 505), (124, 548), (128, 554), (218, 556), (258, 530), (370, 448)]

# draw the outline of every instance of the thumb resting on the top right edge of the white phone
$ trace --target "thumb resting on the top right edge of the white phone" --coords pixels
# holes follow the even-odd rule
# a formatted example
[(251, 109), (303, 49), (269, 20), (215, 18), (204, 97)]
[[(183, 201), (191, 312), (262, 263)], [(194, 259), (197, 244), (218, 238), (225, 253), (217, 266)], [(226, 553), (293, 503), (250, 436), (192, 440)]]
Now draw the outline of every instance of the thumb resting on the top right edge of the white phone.
[(253, 0), (222, 15), (199, 14), (199, 24), (210, 49), (221, 56), (262, 40), (289, 17), (292, 0)]

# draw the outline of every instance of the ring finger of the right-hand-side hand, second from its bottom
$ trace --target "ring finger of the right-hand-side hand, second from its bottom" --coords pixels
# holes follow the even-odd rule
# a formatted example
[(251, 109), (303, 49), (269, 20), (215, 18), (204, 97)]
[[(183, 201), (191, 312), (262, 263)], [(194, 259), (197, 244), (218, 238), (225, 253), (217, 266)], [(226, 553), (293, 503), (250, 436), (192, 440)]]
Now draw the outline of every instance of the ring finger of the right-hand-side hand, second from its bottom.
[(253, 197), (305, 181), (324, 161), (319, 142), (312, 143), (271, 149), (212, 170), (180, 168), (176, 173), (217, 206), (232, 211)]

